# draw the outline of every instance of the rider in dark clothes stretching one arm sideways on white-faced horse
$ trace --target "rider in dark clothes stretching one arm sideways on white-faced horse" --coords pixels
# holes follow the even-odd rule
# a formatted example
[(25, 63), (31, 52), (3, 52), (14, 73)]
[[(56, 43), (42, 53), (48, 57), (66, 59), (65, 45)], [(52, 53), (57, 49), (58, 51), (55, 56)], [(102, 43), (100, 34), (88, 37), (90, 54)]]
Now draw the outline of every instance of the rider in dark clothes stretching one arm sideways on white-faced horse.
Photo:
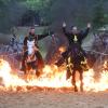
[[(23, 52), (23, 59), (22, 59), (22, 68), (21, 70), (24, 71), (26, 66), (25, 66), (25, 60), (26, 60), (26, 57), (28, 55), (28, 45), (30, 42), (35, 42), (35, 55), (37, 56), (38, 58), (38, 64), (43, 67), (43, 58), (42, 58), (42, 55), (40, 54), (39, 52), (39, 46), (38, 46), (38, 40), (41, 40), (43, 38), (45, 38), (46, 36), (49, 36), (49, 33), (46, 35), (35, 35), (35, 27), (31, 27), (30, 30), (29, 30), (29, 35), (27, 37), (25, 37), (24, 39), (24, 52)], [(32, 44), (32, 45), (33, 45)], [(31, 44), (30, 44), (31, 45)]]

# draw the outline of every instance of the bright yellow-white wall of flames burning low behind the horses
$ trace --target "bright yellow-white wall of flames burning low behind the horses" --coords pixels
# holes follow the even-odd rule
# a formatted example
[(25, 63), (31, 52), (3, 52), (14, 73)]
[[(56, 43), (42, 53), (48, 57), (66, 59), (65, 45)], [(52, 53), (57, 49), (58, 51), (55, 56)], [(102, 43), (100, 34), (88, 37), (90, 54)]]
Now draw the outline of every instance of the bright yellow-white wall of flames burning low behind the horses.
[[(79, 80), (77, 85), (79, 85)], [(93, 69), (84, 71), (83, 73), (84, 91), (106, 91), (108, 90), (108, 71), (103, 70), (98, 80), (95, 79), (95, 72)], [(40, 86), (40, 87), (72, 87), (71, 78), (66, 80), (66, 68), (58, 69), (56, 66), (45, 66), (43, 68), (41, 77), (37, 78), (32, 76), (30, 80), (17, 76), (10, 64), (3, 59), (0, 59), (0, 89), (16, 91), (21, 86), (23, 91), (27, 91), (26, 86)]]

